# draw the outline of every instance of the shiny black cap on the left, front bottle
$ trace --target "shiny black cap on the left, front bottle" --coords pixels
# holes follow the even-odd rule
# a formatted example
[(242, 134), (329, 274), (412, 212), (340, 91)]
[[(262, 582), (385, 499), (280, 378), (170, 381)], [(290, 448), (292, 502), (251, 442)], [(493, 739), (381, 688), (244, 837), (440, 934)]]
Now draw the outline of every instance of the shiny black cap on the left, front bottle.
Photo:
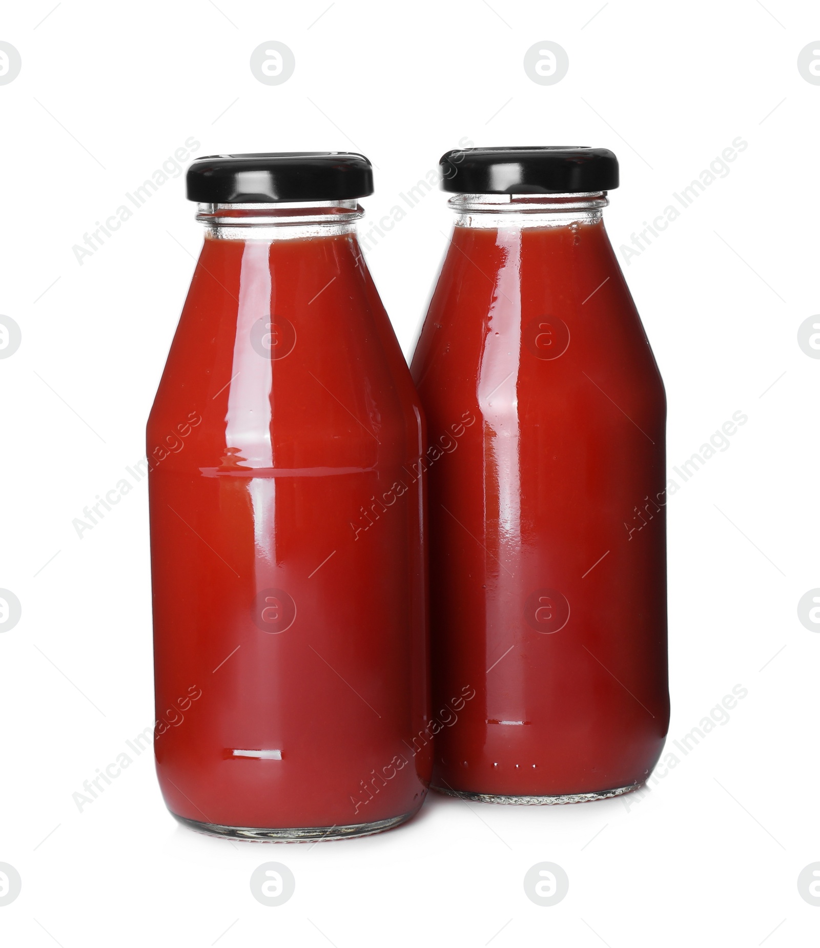
[(373, 193), (373, 168), (348, 152), (207, 155), (186, 177), (188, 199), (201, 204), (345, 201)]

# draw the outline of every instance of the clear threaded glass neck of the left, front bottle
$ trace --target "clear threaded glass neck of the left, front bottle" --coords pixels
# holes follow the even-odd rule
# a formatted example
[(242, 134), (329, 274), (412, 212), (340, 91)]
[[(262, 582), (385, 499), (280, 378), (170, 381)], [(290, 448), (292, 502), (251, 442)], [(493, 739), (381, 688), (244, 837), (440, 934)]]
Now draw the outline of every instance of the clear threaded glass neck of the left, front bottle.
[(200, 204), (196, 219), (210, 240), (299, 240), (355, 233), (364, 210), (355, 200), (277, 204)]

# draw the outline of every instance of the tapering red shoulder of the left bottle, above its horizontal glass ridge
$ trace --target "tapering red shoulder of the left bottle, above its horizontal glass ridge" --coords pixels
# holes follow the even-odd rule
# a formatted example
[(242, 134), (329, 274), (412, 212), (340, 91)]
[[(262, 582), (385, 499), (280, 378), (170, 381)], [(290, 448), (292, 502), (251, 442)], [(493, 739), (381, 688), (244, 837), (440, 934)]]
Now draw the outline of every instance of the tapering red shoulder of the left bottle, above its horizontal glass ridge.
[(418, 444), (418, 396), (350, 246), (325, 247), (308, 261), (294, 253), (283, 270), (267, 246), (222, 253), (212, 243), (159, 383), (149, 449), (191, 412), (202, 419), (195, 440), (211, 461), (214, 451), (237, 448), (265, 466), (273, 447), (294, 466), (322, 452), (356, 455), (361, 465), (374, 449), (404, 455)]

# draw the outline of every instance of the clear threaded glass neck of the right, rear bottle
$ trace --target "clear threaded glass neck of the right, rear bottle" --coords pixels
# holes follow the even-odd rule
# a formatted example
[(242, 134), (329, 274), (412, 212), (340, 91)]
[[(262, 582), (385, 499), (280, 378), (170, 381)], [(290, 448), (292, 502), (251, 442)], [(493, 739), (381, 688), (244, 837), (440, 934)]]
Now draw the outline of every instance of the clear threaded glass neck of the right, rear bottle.
[(447, 202), (460, 228), (561, 228), (597, 224), (606, 191), (578, 194), (454, 194)]

